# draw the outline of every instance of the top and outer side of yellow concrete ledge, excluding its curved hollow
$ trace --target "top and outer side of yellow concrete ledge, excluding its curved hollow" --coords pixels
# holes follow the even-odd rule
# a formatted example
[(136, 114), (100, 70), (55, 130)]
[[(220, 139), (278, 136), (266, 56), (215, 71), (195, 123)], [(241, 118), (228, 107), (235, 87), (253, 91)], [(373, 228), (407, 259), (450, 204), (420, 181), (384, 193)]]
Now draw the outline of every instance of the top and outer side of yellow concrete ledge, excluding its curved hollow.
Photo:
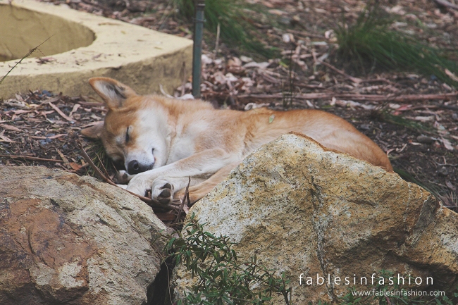
[[(0, 0), (1, 5), (9, 4), (7, 0)], [(190, 39), (75, 11), (66, 6), (31, 0), (13, 0), (12, 5), (18, 9), (63, 18), (68, 23), (77, 23), (94, 33), (95, 40), (88, 46), (51, 55), (51, 60), (46, 63), (37, 62), (37, 58), (24, 59), (0, 84), (2, 99), (13, 97), (17, 92), (27, 92), (29, 89), (47, 89), (70, 96), (95, 96), (87, 83), (89, 77), (94, 76), (113, 77), (129, 85), (139, 94), (159, 92), (159, 84), (171, 93), (175, 87), (181, 85), (184, 77), (182, 71), (185, 70), (186, 76), (191, 73)], [(56, 30), (63, 35), (69, 35), (65, 27), (57, 27)], [(50, 43), (51, 39), (39, 49), (44, 49), (44, 46)], [(42, 56), (39, 53), (34, 55)], [(0, 77), (6, 75), (16, 62), (0, 62)]]

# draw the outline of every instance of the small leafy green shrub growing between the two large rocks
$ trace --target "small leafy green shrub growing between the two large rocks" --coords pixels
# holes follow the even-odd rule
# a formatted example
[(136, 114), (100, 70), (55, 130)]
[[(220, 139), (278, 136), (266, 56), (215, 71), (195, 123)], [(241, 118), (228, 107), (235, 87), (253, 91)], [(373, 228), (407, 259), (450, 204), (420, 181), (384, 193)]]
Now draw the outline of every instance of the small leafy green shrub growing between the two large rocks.
[(228, 237), (205, 232), (194, 216), (183, 230), (185, 237), (173, 237), (166, 249), (197, 277), (197, 284), (178, 305), (273, 304), (273, 294), (282, 294), (285, 304), (292, 304), (284, 274), (277, 276), (275, 270), (258, 263), (256, 255), (240, 262)]

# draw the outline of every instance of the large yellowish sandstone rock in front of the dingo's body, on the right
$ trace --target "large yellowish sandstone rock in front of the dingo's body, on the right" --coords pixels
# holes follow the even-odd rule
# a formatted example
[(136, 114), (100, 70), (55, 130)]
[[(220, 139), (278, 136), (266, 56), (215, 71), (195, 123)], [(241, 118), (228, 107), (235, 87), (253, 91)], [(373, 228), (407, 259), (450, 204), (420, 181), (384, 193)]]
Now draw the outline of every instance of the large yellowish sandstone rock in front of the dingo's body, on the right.
[[(410, 286), (416, 290), (458, 284), (457, 213), (399, 175), (302, 135), (283, 135), (261, 147), (190, 213), (204, 230), (237, 242), (239, 256), (257, 254), (269, 268), (285, 272), (295, 304), (336, 301), (348, 293), (345, 277), (353, 284), (354, 275), (357, 282), (364, 276), (370, 283), (382, 269), (421, 278), (421, 285)], [(301, 273), (314, 284), (303, 280), (299, 286)], [(326, 279), (323, 285), (317, 285), (317, 273)], [(425, 285), (427, 277), (432, 286)], [(184, 268), (175, 270), (178, 296), (190, 282)]]

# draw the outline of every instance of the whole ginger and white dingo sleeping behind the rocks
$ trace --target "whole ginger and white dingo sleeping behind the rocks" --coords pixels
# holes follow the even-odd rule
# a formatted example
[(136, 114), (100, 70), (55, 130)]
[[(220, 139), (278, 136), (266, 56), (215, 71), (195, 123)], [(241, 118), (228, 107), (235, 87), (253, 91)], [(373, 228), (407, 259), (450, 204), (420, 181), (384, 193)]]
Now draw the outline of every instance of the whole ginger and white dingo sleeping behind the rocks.
[(287, 132), (301, 132), (323, 147), (392, 170), (386, 154), (346, 120), (317, 110), (217, 110), (205, 101), (140, 96), (116, 80), (89, 80), (104, 99), (104, 123), (82, 130), (101, 138), (107, 154), (123, 161), (127, 189), (161, 204), (181, 198), (191, 178), (197, 201), (248, 154)]

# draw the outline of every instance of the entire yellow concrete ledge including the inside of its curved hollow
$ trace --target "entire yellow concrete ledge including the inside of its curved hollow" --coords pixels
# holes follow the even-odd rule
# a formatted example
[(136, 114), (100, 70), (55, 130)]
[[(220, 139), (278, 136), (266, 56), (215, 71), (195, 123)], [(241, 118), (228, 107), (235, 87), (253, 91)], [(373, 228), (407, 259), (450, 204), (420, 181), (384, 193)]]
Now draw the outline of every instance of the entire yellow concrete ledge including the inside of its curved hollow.
[[(32, 0), (13, 0), (11, 5), (13, 8), (8, 1), (0, 0), (0, 34), (1, 29), (10, 33), (0, 36), (3, 41), (16, 39), (26, 44), (21, 49), (16, 44), (2, 42), (0, 54), (2, 46), (9, 51), (1, 56), (21, 58), (42, 42), (37, 42), (37, 39), (54, 36), (39, 48), (50, 61), (38, 63), (37, 58), (24, 59), (0, 84), (2, 99), (29, 89), (47, 89), (70, 96), (93, 96), (87, 80), (94, 76), (116, 78), (140, 94), (158, 92), (159, 84), (168, 92), (173, 92), (173, 88), (182, 82), (183, 70), (187, 75), (191, 73), (190, 39), (75, 11), (66, 6)], [(20, 20), (14, 35), (11, 35), (11, 22), (5, 19), (8, 16)], [(36, 26), (30, 25), (33, 19)], [(72, 49), (75, 46), (77, 49)], [(13, 50), (15, 48), (16, 51)], [(35, 56), (43, 54), (37, 51)], [(17, 61), (0, 62), (0, 77), (6, 75)]]

